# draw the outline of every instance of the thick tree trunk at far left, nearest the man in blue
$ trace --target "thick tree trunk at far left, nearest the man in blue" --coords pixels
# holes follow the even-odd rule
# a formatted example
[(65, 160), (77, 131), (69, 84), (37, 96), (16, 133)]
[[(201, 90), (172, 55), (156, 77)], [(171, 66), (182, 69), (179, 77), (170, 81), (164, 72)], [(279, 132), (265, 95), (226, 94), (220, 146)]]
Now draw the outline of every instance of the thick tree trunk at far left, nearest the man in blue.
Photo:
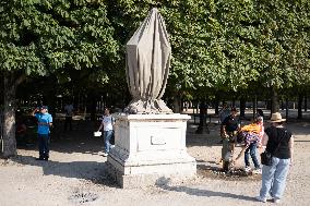
[(15, 156), (16, 140), (15, 140), (15, 92), (16, 84), (14, 74), (4, 72), (3, 80), (4, 93), (4, 110), (3, 110), (3, 150), (2, 157), (9, 158)]

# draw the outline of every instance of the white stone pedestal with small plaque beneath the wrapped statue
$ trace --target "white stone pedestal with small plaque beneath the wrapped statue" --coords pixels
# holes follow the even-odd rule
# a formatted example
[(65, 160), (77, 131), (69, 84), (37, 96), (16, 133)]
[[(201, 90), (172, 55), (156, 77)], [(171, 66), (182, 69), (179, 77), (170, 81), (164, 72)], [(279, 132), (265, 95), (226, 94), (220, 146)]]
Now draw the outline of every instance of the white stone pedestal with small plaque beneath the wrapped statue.
[[(186, 148), (187, 114), (119, 114), (108, 172), (121, 187), (186, 179), (196, 173), (195, 159)], [(158, 182), (159, 181), (159, 182)]]

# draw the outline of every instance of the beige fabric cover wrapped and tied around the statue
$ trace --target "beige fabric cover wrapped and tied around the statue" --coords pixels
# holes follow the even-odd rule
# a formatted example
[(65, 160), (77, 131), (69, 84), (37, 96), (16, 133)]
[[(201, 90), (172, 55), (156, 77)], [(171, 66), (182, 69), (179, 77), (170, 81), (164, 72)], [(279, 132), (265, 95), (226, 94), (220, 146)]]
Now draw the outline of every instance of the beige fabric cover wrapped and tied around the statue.
[(160, 100), (169, 74), (170, 56), (164, 20), (157, 9), (152, 9), (127, 43), (127, 81), (133, 99), (126, 112), (172, 113)]

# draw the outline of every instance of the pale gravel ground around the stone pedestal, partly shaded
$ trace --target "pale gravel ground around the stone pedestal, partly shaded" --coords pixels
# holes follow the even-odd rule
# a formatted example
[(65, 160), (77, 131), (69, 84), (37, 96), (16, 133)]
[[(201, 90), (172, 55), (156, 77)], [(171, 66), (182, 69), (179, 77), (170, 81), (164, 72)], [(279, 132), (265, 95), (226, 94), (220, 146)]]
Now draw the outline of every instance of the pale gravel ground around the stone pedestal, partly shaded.
[[(0, 160), (1, 206), (63, 205), (262, 205), (254, 201), (261, 175), (226, 177), (213, 170), (220, 156), (219, 126), (211, 124), (210, 134), (199, 135), (188, 125), (187, 145), (198, 160), (198, 175), (182, 182), (145, 189), (119, 189), (105, 174), (106, 158), (100, 156), (103, 140), (92, 137), (94, 125), (75, 125), (52, 141), (50, 160), (36, 161), (35, 147), (19, 148), (17, 157)], [(295, 163), (290, 169), (285, 198), (281, 205), (310, 205), (310, 123), (287, 124), (295, 135)], [(240, 147), (237, 147), (237, 153)], [(242, 158), (241, 158), (242, 159)], [(242, 167), (240, 160), (237, 167)], [(265, 205), (274, 205), (267, 202)]]

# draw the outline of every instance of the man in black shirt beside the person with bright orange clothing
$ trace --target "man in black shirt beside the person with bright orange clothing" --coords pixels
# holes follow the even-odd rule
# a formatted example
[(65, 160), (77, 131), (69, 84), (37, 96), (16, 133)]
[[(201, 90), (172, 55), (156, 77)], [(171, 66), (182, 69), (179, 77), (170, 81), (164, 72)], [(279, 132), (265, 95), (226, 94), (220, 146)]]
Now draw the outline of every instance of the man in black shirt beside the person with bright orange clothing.
[(237, 109), (231, 108), (230, 116), (225, 118), (220, 126), (220, 133), (223, 138), (222, 160), (224, 161), (223, 169), (225, 171), (229, 169), (229, 162), (233, 161), (236, 136), (238, 130), (240, 129), (240, 123), (237, 119)]

